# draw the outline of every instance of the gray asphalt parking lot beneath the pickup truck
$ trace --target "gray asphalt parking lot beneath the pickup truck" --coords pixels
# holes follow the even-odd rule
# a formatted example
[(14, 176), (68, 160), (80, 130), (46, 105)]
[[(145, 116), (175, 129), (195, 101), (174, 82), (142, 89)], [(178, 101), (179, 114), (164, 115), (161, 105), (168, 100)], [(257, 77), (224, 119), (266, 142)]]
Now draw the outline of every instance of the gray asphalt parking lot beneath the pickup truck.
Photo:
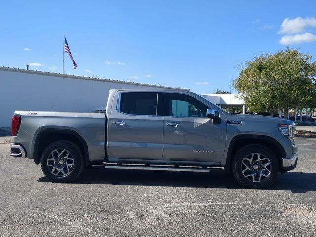
[(316, 138), (267, 190), (223, 172), (85, 170), (48, 182), (0, 144), (0, 236), (316, 236)]

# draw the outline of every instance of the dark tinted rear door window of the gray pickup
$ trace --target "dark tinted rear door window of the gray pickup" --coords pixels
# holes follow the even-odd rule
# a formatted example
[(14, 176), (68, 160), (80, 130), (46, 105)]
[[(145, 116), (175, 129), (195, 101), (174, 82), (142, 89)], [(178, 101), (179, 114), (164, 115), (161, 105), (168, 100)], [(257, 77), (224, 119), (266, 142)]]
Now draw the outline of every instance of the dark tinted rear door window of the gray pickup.
[(122, 93), (120, 111), (131, 115), (156, 115), (157, 93)]

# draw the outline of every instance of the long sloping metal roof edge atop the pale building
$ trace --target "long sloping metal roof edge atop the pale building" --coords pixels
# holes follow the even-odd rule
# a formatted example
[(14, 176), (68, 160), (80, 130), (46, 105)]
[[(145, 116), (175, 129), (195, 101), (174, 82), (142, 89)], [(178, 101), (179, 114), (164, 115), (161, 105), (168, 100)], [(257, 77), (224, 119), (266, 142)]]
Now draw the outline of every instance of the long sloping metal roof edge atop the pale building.
[(94, 80), (94, 81), (102, 81), (102, 82), (114, 82), (114, 83), (122, 83), (122, 84), (152, 86), (155, 88), (167, 88), (167, 89), (175, 89), (175, 90), (190, 90), (190, 89), (185, 89), (185, 88), (180, 88), (180, 87), (176, 88), (176, 87), (170, 87), (170, 86), (160, 86), (160, 85), (129, 82), (129, 81), (122, 81), (122, 80), (103, 79), (103, 78), (92, 78), (92, 77), (84, 77), (84, 76), (77, 76), (77, 75), (70, 75), (70, 74), (52, 73), (52, 72), (37, 71), (37, 70), (26, 70), (26, 69), (21, 69), (21, 68), (10, 68), (10, 67), (3, 67), (3, 66), (0, 66), (0, 70), (17, 72), (17, 73), (31, 73), (31, 74), (45, 75), (45, 76), (57, 76), (57, 77), (65, 77), (65, 78), (73, 78), (73, 79), (81, 79), (81, 80)]

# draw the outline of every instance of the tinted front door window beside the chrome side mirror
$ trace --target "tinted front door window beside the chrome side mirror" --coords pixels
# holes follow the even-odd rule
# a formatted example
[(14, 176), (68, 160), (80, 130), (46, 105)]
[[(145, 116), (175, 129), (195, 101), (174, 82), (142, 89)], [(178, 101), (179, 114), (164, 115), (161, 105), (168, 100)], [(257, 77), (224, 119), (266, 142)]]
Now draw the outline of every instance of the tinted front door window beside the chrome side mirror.
[(183, 94), (164, 94), (164, 115), (175, 117), (206, 117), (208, 106)]

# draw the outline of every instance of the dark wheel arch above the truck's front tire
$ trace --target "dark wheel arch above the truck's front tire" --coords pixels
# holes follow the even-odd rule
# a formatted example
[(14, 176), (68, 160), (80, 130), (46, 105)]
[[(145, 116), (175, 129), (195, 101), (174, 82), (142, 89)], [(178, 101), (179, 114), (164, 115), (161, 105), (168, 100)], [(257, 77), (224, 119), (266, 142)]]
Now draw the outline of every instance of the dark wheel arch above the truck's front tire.
[(226, 157), (225, 170), (230, 173), (232, 169), (232, 159), (234, 154), (243, 146), (246, 145), (262, 145), (269, 148), (278, 159), (279, 168), (282, 167), (282, 158), (286, 157), (285, 149), (283, 146), (274, 138), (265, 135), (237, 135), (231, 140)]

